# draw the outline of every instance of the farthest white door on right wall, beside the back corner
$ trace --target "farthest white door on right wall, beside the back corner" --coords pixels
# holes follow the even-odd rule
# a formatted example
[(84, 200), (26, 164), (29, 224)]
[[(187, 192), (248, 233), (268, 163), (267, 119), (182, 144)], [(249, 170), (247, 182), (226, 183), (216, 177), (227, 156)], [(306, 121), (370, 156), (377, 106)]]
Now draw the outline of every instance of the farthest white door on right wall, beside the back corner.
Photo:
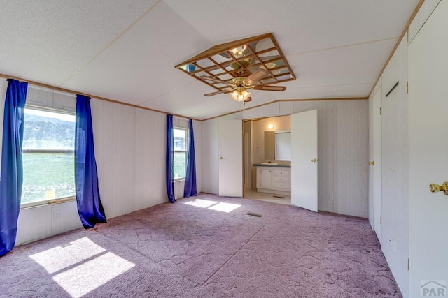
[(370, 144), (370, 161), (374, 165), (370, 165), (369, 174), (372, 177), (372, 185), (369, 187), (370, 199), (373, 200), (373, 228), (377, 234), (379, 243), (382, 245), (382, 230), (381, 230), (381, 86), (377, 89), (372, 98), (372, 137), (373, 142)]

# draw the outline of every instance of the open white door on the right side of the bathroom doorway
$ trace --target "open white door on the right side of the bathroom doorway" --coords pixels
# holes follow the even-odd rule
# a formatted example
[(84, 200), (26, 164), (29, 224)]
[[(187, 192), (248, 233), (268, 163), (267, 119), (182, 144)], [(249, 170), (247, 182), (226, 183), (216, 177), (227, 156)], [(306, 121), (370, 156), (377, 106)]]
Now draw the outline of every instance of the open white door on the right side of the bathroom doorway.
[(291, 204), (318, 211), (317, 110), (291, 115)]

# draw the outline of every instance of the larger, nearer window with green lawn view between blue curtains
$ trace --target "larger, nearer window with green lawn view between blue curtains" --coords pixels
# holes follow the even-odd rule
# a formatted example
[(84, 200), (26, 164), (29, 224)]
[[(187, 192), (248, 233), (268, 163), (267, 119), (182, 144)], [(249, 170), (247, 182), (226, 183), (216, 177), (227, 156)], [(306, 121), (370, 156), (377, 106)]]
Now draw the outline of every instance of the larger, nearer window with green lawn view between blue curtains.
[(22, 206), (75, 195), (75, 115), (25, 107)]

